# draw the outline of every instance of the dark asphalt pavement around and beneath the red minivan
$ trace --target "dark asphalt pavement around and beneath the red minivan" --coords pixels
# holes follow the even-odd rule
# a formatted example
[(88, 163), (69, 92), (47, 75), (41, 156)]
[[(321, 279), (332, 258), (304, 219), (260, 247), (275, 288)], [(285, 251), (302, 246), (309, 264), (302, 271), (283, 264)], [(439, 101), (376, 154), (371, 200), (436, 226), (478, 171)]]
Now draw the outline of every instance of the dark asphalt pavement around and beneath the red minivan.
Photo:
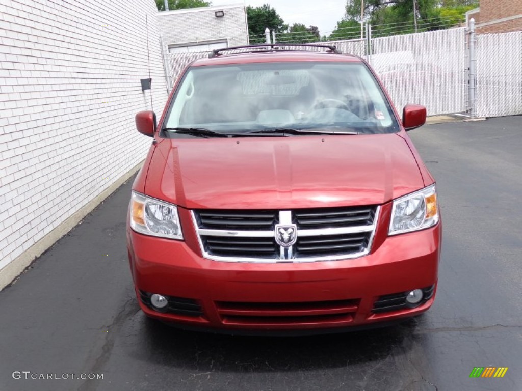
[[(444, 222), (437, 298), (423, 316), (306, 337), (150, 321), (128, 267), (127, 182), (0, 292), (0, 391), (521, 390), (522, 117), (410, 136), (437, 180)], [(476, 366), (509, 369), (470, 378)], [(82, 373), (103, 378), (73, 378)]]

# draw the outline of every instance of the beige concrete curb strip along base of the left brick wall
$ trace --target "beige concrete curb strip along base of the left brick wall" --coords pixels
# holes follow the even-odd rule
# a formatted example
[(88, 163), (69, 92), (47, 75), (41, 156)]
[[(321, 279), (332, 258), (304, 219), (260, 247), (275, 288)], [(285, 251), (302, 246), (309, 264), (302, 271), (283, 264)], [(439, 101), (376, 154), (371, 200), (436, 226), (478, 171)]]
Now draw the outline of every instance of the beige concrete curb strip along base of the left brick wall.
[(122, 186), (129, 178), (138, 172), (143, 165), (143, 161), (134, 166), (129, 172), (118, 178), (111, 186), (103, 190), (99, 196), (89, 201), (85, 206), (81, 207), (76, 213), (67, 218), (62, 224), (54, 228), (49, 234), (34, 243), (26, 251), (18, 255), (13, 261), (8, 263), (0, 270), (0, 291), (7, 285), (11, 284), (16, 278), (26, 270), (26, 268), (37, 259), (42, 253), (49, 249), (54, 243), (61, 239), (71, 229), (82, 221), (94, 208), (96, 208), (103, 200), (109, 197), (114, 191)]

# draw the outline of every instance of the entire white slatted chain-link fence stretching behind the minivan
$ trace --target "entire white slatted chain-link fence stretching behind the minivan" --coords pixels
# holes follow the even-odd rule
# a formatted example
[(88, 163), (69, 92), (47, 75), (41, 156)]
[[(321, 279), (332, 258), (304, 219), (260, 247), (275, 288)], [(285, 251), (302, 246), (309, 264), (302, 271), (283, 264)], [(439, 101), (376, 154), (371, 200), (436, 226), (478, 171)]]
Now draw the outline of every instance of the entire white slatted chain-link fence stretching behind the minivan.
[[(408, 103), (426, 106), (428, 115), (469, 111), (466, 28), (317, 44), (335, 45), (343, 53), (365, 57), (399, 113)], [(479, 34), (476, 46), (477, 116), (522, 114), (522, 31)], [(302, 47), (296, 45), (295, 50)], [(169, 89), (186, 66), (209, 53), (165, 52)]]

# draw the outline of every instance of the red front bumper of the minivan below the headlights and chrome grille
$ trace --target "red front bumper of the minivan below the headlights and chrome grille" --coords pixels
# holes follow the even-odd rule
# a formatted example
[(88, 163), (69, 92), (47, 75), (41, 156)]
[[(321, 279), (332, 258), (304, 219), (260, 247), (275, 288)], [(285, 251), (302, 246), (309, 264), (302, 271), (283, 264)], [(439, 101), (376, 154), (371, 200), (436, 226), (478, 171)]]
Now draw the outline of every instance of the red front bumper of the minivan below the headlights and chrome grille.
[[(392, 237), (386, 235), (387, 225), (379, 226), (371, 253), (361, 258), (276, 264), (204, 259), (189, 230), (185, 241), (175, 241), (127, 228), (138, 302), (148, 316), (162, 321), (229, 332), (341, 330), (428, 310), (435, 298), (441, 224)], [(431, 288), (430, 298), (418, 307), (374, 308), (376, 301)], [(171, 311), (147, 305), (151, 293), (168, 296)]]

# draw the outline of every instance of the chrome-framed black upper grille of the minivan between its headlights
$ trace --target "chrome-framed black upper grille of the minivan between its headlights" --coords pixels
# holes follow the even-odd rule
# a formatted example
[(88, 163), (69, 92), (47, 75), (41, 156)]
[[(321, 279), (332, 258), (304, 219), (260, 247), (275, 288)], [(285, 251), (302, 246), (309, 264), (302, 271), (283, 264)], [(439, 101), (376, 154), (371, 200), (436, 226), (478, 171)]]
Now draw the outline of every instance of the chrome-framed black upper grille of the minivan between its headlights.
[[(370, 251), (377, 206), (274, 210), (197, 210), (193, 219), (205, 258), (227, 262), (314, 262)], [(281, 243), (276, 228), (294, 230)], [(279, 242), (278, 242), (279, 240)], [(287, 242), (288, 243), (288, 242)]]

